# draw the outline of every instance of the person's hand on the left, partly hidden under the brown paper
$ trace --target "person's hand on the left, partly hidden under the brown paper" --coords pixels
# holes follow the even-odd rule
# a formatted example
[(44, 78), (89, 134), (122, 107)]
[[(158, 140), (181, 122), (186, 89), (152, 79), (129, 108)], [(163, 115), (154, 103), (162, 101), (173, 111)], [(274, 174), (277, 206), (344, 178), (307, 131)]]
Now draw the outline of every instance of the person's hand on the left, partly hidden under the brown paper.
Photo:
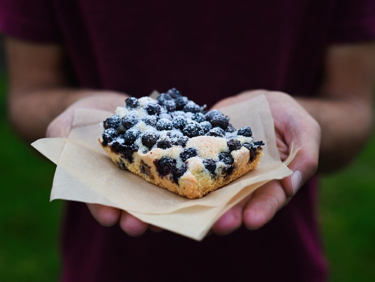
[[(68, 137), (72, 128), (74, 113), (78, 108), (90, 108), (113, 111), (117, 106), (123, 105), (128, 96), (117, 93), (91, 94), (74, 102), (63, 113), (55, 118), (47, 128), (47, 137)], [(142, 235), (148, 228), (153, 231), (161, 229), (137, 219), (133, 215), (118, 208), (100, 204), (87, 203), (93, 217), (104, 226), (120, 224), (122, 230), (131, 236)]]

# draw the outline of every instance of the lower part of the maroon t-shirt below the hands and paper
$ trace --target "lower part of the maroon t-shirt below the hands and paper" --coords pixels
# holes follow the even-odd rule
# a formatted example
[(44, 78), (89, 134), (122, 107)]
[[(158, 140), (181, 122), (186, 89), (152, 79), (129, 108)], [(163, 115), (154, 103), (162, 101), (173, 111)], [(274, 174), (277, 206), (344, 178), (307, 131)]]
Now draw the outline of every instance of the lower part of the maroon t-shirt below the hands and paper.
[(201, 242), (168, 231), (132, 238), (118, 226), (100, 226), (85, 204), (71, 202), (63, 280), (325, 281), (311, 187), (303, 187), (263, 228), (211, 234)]

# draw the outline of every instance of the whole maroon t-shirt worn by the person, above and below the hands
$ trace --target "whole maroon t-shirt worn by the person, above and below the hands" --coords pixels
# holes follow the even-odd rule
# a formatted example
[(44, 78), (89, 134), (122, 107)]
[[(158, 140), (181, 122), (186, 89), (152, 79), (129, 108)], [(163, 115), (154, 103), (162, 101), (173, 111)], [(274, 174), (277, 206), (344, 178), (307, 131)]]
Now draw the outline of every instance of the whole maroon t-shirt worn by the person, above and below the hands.
[[(211, 106), (257, 88), (313, 96), (328, 45), (375, 39), (375, 2), (0, 0), (0, 31), (64, 44), (77, 87), (137, 97), (176, 87)], [(201, 242), (169, 231), (133, 238), (69, 202), (63, 280), (324, 281), (316, 186), (259, 230)]]

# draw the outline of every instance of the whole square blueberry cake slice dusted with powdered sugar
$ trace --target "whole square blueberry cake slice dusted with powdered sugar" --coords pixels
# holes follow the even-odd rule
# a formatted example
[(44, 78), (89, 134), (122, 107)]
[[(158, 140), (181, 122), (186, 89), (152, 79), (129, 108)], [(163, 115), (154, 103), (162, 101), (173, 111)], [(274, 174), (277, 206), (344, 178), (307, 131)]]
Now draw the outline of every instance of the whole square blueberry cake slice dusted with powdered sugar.
[(234, 129), (172, 88), (158, 98), (130, 97), (103, 122), (101, 146), (121, 168), (190, 199), (254, 169), (262, 141), (250, 127)]

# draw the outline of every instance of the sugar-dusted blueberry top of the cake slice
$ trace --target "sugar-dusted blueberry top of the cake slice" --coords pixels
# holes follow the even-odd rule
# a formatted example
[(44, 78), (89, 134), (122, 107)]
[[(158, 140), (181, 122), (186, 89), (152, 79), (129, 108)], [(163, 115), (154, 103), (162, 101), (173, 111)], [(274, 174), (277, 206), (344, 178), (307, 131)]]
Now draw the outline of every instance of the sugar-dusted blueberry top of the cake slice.
[(211, 175), (230, 174), (232, 152), (245, 147), (250, 158), (264, 145), (254, 142), (250, 127), (238, 131), (219, 110), (206, 111), (183, 96), (176, 88), (158, 98), (130, 97), (115, 115), (103, 121), (103, 145), (121, 152), (126, 159), (132, 154), (158, 150), (162, 156), (155, 162), (161, 175), (172, 174), (175, 182), (188, 170), (189, 160), (198, 158)]

